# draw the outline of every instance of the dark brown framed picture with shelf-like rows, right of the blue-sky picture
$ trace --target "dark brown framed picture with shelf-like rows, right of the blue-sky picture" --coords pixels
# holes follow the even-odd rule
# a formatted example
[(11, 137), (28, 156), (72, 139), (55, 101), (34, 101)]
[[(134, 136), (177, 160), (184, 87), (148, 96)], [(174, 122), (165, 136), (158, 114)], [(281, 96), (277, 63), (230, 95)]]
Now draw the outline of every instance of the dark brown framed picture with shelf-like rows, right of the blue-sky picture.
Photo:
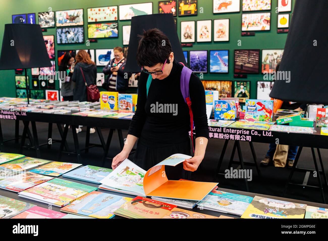
[(234, 72), (258, 74), (260, 65), (260, 50), (235, 50)]

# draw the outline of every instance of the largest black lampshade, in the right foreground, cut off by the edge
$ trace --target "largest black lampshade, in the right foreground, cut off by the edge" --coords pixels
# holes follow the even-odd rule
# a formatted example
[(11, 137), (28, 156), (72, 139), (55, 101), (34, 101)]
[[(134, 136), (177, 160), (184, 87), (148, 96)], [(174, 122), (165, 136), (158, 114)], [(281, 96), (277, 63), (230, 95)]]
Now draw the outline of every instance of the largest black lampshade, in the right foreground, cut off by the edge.
[(304, 104), (328, 104), (327, 11), (327, 0), (295, 2), (279, 67), (279, 71), (290, 71), (290, 80), (276, 80), (270, 97)]

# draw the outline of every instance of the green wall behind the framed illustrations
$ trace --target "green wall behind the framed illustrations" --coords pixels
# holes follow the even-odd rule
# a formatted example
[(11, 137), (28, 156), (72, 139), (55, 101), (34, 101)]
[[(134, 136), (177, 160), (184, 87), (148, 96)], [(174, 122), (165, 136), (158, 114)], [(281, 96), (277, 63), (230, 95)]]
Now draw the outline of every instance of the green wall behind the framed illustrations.
[[(67, 10), (67, 9), (84, 9), (84, 31), (85, 41), (87, 40), (87, 8), (103, 7), (103, 6), (115, 6), (122, 4), (133, 4), (153, 2), (153, 13), (158, 13), (158, 1), (151, 0), (0, 0), (0, 6), (2, 14), (0, 14), (0, 47), (2, 46), (2, 38), (4, 32), (4, 25), (11, 23), (12, 14), (20, 13), (37, 13), (48, 11), (51, 7), (53, 11)], [(242, 2), (242, 0), (240, 0)], [(294, 8), (295, 0), (292, 2)], [(220, 50), (229, 49), (229, 73), (205, 73), (204, 80), (239, 80), (234, 79), (233, 71), (233, 53), (234, 49), (283, 49), (287, 38), (286, 33), (277, 33), (277, 13), (275, 9), (277, 7), (277, 0), (272, 0), (271, 7), (271, 30), (265, 32), (256, 32), (255, 36), (241, 36), (241, 6), (239, 13), (222, 13), (213, 14), (213, 1), (212, 0), (198, 0), (198, 9), (203, 7), (203, 13), (199, 13), (196, 16), (177, 16), (177, 31), (180, 37), (180, 21), (191, 21), (191, 20), (208, 20), (218, 18), (230, 18), (230, 41), (229, 42), (206, 42), (193, 44), (193, 47), (185, 47), (183, 50)], [(290, 12), (291, 14), (291, 12)], [(36, 20), (38, 22), (38, 20)], [(130, 20), (118, 21), (118, 38), (114, 39), (98, 39), (97, 43), (90, 43), (90, 47), (85, 44), (67, 44), (57, 45), (55, 44), (55, 54), (57, 58), (57, 50), (77, 50), (77, 49), (106, 49), (113, 48), (115, 46), (123, 46), (122, 40), (122, 26), (130, 25)], [(213, 23), (212, 23), (213, 25)], [(49, 28), (44, 35), (56, 35), (56, 28)], [(24, 37), (24, 36), (22, 36)], [(213, 36), (212, 36), (213, 38)], [(241, 40), (241, 46), (237, 45), (237, 41)], [(56, 37), (55, 37), (56, 42)], [(10, 56), (8, 56), (10, 58)], [(57, 66), (57, 60), (56, 60)], [(102, 67), (97, 67), (98, 72), (101, 72)], [(31, 80), (31, 70), (29, 70)], [(0, 70), (0, 96), (16, 96), (15, 89), (15, 71), (14, 70)], [(263, 80), (262, 74), (248, 74), (246, 79), (251, 81), (251, 98), (256, 98), (256, 81)], [(31, 87), (31, 83), (30, 83)], [(56, 89), (59, 89), (59, 83), (56, 82)]]

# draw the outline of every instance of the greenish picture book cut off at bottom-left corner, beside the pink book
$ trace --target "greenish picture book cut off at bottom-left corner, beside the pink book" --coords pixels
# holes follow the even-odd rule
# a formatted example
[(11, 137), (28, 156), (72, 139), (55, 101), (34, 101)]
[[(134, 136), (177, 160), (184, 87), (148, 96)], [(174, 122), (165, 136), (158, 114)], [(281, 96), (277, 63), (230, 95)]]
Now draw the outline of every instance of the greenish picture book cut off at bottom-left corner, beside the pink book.
[(0, 195), (0, 218), (11, 218), (35, 205)]

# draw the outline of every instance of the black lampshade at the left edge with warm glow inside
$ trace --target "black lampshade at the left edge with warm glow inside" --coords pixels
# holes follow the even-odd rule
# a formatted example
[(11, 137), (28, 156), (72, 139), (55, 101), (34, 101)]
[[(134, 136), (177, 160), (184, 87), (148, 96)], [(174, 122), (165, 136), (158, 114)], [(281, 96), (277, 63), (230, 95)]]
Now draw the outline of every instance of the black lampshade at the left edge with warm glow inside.
[(5, 24), (0, 70), (51, 67), (38, 24)]

